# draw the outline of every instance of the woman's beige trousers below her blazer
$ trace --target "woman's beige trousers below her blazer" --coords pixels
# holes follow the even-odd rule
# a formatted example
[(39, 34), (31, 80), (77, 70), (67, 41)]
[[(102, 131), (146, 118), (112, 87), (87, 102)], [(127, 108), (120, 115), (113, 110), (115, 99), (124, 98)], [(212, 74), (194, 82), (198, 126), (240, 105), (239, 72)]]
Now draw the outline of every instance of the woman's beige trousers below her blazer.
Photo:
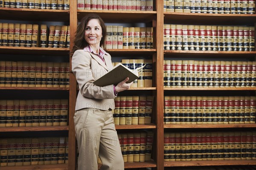
[(124, 170), (124, 161), (112, 111), (85, 108), (74, 115), (76, 139), (79, 149), (78, 170)]

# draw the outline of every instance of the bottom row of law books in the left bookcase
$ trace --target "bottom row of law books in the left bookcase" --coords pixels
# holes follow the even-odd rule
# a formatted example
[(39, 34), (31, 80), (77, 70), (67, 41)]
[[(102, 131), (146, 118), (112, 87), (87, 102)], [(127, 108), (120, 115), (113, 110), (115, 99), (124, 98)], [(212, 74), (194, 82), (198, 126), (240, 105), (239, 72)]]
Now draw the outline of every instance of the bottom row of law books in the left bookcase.
[(68, 138), (1, 138), (0, 167), (68, 163)]

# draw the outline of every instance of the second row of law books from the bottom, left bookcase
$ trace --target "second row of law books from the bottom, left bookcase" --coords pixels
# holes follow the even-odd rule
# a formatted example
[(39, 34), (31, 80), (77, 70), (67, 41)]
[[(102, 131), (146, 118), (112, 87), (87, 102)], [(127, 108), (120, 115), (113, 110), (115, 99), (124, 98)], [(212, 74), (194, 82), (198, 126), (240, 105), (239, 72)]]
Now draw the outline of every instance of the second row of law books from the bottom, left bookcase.
[(68, 99), (0, 100), (0, 127), (67, 126)]

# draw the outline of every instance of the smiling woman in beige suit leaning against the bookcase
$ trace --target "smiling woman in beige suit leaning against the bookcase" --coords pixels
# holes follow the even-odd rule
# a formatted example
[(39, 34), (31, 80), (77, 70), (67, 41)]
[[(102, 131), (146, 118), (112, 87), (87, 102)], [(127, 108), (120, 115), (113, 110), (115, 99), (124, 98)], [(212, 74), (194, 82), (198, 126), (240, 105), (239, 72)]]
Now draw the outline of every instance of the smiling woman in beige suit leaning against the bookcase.
[(132, 82), (126, 83), (126, 78), (116, 86), (93, 84), (113, 68), (111, 56), (105, 52), (105, 37), (103, 20), (96, 14), (88, 14), (81, 20), (74, 41), (72, 71), (79, 84), (74, 115), (79, 170), (97, 170), (98, 155), (102, 169), (124, 169), (112, 109), (116, 94), (129, 89)]

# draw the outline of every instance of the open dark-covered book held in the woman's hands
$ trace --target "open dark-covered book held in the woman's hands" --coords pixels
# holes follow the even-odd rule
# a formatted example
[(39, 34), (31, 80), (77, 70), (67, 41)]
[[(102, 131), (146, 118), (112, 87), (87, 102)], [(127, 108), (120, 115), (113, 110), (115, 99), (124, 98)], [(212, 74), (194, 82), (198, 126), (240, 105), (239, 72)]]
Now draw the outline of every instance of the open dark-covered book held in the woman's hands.
[(97, 79), (96, 81), (94, 81), (93, 84), (100, 87), (106, 85), (117, 85), (119, 82), (122, 82), (124, 79), (126, 79), (126, 77), (129, 77), (129, 80), (126, 83), (130, 83), (140, 77), (139, 72), (144, 67), (145, 65), (134, 70), (131, 70), (130, 68), (125, 67), (121, 63), (118, 63), (113, 67), (111, 71), (109, 71), (107, 74)]

